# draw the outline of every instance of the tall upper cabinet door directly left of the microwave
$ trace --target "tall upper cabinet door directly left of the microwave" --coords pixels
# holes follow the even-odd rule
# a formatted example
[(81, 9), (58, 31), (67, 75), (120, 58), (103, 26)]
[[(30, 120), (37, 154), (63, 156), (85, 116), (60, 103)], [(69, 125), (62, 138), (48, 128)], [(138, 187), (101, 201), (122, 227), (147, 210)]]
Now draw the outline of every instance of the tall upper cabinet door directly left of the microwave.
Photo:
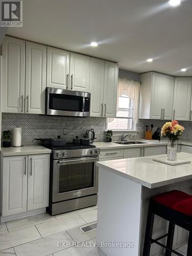
[(46, 113), (46, 53), (46, 46), (26, 42), (25, 113)]

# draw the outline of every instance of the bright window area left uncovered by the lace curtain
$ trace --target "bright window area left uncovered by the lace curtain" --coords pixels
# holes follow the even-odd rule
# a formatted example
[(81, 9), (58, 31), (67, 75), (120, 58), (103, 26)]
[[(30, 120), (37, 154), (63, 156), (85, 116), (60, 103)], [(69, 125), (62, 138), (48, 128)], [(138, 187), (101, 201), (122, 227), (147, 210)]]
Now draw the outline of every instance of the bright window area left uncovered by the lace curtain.
[(116, 118), (108, 118), (108, 130), (134, 130), (133, 99), (121, 95), (118, 103)]

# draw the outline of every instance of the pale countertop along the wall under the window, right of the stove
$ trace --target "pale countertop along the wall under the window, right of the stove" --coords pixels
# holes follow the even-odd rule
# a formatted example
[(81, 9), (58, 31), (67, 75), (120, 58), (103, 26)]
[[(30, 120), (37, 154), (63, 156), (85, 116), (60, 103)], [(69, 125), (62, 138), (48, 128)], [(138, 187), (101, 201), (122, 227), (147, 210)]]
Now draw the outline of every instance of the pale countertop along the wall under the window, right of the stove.
[[(110, 149), (116, 150), (118, 148), (129, 148), (129, 147), (163, 146), (163, 145), (167, 145), (167, 142), (168, 140), (160, 140), (158, 142), (146, 142), (142, 144), (131, 144), (131, 145), (117, 144), (115, 142), (94, 142), (93, 145), (95, 145), (96, 147), (99, 147), (100, 150), (110, 150)], [(178, 144), (192, 146), (192, 141), (179, 140)]]

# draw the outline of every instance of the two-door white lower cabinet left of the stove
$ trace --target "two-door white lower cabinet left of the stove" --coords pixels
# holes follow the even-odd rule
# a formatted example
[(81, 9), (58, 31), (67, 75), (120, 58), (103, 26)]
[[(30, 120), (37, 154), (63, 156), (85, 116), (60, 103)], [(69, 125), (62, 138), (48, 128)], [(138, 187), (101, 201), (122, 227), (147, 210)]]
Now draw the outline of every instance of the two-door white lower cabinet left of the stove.
[(49, 205), (50, 155), (1, 159), (1, 216)]

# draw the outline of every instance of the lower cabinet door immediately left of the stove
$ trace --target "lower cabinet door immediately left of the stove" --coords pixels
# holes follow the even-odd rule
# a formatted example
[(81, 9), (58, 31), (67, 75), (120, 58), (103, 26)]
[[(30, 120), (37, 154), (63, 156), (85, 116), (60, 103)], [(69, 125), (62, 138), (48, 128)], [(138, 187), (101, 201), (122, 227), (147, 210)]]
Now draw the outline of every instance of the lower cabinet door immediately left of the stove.
[(27, 210), (49, 205), (50, 155), (28, 157), (28, 199)]

